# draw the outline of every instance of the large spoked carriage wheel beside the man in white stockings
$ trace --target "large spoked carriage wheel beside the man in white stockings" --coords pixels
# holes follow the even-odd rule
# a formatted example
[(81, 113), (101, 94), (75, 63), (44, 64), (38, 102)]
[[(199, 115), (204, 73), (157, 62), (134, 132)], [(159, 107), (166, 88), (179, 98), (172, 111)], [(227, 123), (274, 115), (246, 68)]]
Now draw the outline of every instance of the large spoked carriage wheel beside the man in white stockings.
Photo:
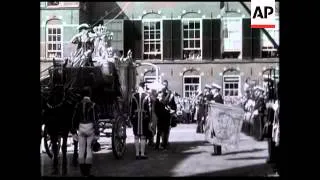
[(121, 159), (124, 156), (126, 138), (126, 120), (119, 115), (112, 126), (112, 152), (117, 159)]

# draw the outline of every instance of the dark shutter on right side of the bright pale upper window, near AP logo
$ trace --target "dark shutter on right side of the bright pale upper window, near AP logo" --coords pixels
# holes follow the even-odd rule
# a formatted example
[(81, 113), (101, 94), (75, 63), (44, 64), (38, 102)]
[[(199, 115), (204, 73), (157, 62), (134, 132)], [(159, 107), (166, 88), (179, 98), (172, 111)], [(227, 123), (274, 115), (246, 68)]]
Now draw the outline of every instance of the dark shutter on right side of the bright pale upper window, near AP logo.
[(242, 19), (242, 59), (252, 59), (252, 29), (249, 18)]

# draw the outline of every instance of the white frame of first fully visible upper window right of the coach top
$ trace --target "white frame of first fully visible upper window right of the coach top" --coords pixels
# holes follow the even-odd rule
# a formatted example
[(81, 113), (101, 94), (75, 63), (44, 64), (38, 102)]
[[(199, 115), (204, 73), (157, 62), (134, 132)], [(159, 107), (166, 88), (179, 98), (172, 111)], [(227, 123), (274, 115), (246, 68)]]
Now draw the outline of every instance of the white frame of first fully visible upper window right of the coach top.
[[(156, 52), (156, 54), (160, 54), (160, 60), (163, 60), (163, 20), (162, 19), (143, 19), (142, 20), (142, 59), (144, 59), (144, 55), (153, 55), (155, 52), (145, 52), (144, 51), (144, 23), (145, 22), (160, 22), (160, 52)], [(155, 38), (154, 38), (155, 40)], [(150, 47), (149, 47), (150, 50)], [(150, 60), (150, 59), (144, 59), (144, 60)], [(151, 59), (154, 60), (154, 59)]]

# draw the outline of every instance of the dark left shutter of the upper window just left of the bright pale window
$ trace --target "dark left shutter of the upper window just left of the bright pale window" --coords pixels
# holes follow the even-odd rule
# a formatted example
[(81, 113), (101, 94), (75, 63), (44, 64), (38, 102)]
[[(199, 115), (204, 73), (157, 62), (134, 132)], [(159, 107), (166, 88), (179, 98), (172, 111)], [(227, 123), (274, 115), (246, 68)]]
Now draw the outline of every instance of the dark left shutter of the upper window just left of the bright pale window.
[(182, 45), (181, 45), (181, 20), (172, 20), (172, 54), (173, 59), (182, 59)]

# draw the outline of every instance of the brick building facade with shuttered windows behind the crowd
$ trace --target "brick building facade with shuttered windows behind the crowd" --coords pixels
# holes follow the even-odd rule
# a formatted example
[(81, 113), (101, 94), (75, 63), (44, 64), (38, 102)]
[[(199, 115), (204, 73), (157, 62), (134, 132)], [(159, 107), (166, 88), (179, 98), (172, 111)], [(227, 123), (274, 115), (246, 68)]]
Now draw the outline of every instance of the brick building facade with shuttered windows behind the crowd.
[[(81, 19), (93, 24), (103, 17), (104, 25), (114, 32), (112, 46), (116, 50), (126, 53), (131, 49), (136, 62), (156, 64), (161, 79), (167, 79), (170, 88), (184, 97), (192, 96), (212, 82), (222, 86), (224, 96), (239, 97), (246, 79), (262, 84), (266, 69), (279, 68), (275, 46), (262, 30), (250, 28), (247, 2), (85, 4), (86, 15), (82, 17), (86, 18)], [(279, 3), (276, 6), (279, 22)], [(70, 19), (70, 12), (59, 15), (64, 17), (64, 14)], [(77, 18), (72, 23), (79, 23)], [(279, 24), (267, 31), (279, 45)], [(63, 48), (64, 56), (69, 53), (66, 47), (70, 46)], [(138, 81), (155, 79), (155, 70), (139, 67), (136, 78)]]

